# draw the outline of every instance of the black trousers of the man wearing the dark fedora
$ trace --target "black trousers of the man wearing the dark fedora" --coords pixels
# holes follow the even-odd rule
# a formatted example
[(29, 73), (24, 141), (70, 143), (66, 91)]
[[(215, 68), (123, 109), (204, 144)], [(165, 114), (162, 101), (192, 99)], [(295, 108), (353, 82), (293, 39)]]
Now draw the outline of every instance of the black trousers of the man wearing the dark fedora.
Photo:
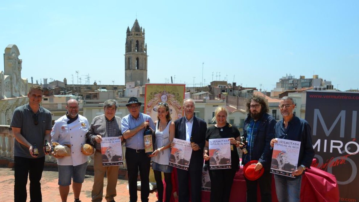
[(150, 195), (150, 160), (145, 152), (137, 153), (136, 150), (126, 149), (127, 174), (129, 176), (130, 201), (137, 201), (137, 176), (140, 171), (141, 178), (141, 201), (148, 202)]

